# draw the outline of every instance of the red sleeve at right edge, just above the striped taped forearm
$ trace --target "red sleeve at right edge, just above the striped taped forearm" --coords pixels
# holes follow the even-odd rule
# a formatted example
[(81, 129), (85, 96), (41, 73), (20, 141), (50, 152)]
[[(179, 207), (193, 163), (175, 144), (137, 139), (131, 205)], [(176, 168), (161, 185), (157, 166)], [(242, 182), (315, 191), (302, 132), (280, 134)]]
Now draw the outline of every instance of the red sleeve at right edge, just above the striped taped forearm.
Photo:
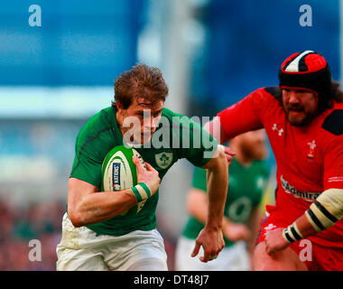
[(343, 135), (336, 136), (324, 154), (324, 191), (343, 189)]

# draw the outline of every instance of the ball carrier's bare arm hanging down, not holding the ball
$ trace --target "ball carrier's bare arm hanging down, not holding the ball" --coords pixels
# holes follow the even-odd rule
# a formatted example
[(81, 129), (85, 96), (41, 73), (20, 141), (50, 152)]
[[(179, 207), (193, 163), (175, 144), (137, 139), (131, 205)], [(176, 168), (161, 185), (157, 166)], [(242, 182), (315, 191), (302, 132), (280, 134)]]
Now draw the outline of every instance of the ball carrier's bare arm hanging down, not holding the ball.
[(218, 256), (224, 247), (222, 224), (224, 206), (227, 199), (228, 169), (227, 160), (223, 149), (218, 146), (217, 157), (212, 158), (203, 168), (208, 171), (208, 216), (198, 238), (191, 256), (197, 256), (199, 248), (204, 249), (204, 256), (200, 256), (202, 262)]

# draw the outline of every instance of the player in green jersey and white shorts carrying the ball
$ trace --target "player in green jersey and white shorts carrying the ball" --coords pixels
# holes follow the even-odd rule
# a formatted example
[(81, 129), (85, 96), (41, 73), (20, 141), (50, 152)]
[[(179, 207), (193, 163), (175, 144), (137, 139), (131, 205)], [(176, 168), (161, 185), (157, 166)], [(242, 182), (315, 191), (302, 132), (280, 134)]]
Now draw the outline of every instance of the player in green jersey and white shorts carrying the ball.
[[(208, 217), (192, 254), (203, 247), (200, 259), (208, 262), (224, 247), (227, 157), (198, 123), (164, 108), (167, 94), (161, 71), (138, 64), (116, 78), (112, 106), (80, 130), (57, 247), (58, 270), (168, 270), (155, 210), (160, 182), (181, 158), (208, 170)], [(146, 169), (133, 159), (137, 179), (151, 191), (142, 209), (130, 216), (123, 212), (137, 204), (131, 189), (101, 191), (102, 163), (123, 144), (142, 155)]]

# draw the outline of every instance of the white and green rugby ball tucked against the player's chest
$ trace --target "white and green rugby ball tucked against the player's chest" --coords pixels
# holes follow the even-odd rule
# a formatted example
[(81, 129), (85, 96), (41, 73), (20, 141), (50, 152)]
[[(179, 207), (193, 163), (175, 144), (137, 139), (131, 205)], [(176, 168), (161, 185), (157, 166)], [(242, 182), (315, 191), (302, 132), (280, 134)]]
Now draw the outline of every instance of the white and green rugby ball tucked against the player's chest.
[[(144, 160), (134, 148), (118, 145), (113, 148), (102, 163), (102, 191), (121, 191), (137, 184), (137, 170), (132, 160), (136, 155), (146, 168)], [(138, 202), (133, 208), (121, 213), (121, 216), (133, 216), (142, 210), (145, 200)]]

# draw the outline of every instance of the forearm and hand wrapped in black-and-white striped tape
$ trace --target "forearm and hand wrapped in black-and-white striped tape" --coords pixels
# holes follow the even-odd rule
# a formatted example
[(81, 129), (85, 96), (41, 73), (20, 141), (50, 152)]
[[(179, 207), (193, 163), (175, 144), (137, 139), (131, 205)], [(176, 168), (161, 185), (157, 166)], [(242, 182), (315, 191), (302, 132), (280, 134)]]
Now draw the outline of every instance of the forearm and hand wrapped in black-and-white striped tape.
[(292, 242), (307, 238), (333, 226), (343, 218), (343, 189), (323, 191), (310, 209), (288, 228), (276, 228), (266, 234), (268, 254), (288, 247)]

